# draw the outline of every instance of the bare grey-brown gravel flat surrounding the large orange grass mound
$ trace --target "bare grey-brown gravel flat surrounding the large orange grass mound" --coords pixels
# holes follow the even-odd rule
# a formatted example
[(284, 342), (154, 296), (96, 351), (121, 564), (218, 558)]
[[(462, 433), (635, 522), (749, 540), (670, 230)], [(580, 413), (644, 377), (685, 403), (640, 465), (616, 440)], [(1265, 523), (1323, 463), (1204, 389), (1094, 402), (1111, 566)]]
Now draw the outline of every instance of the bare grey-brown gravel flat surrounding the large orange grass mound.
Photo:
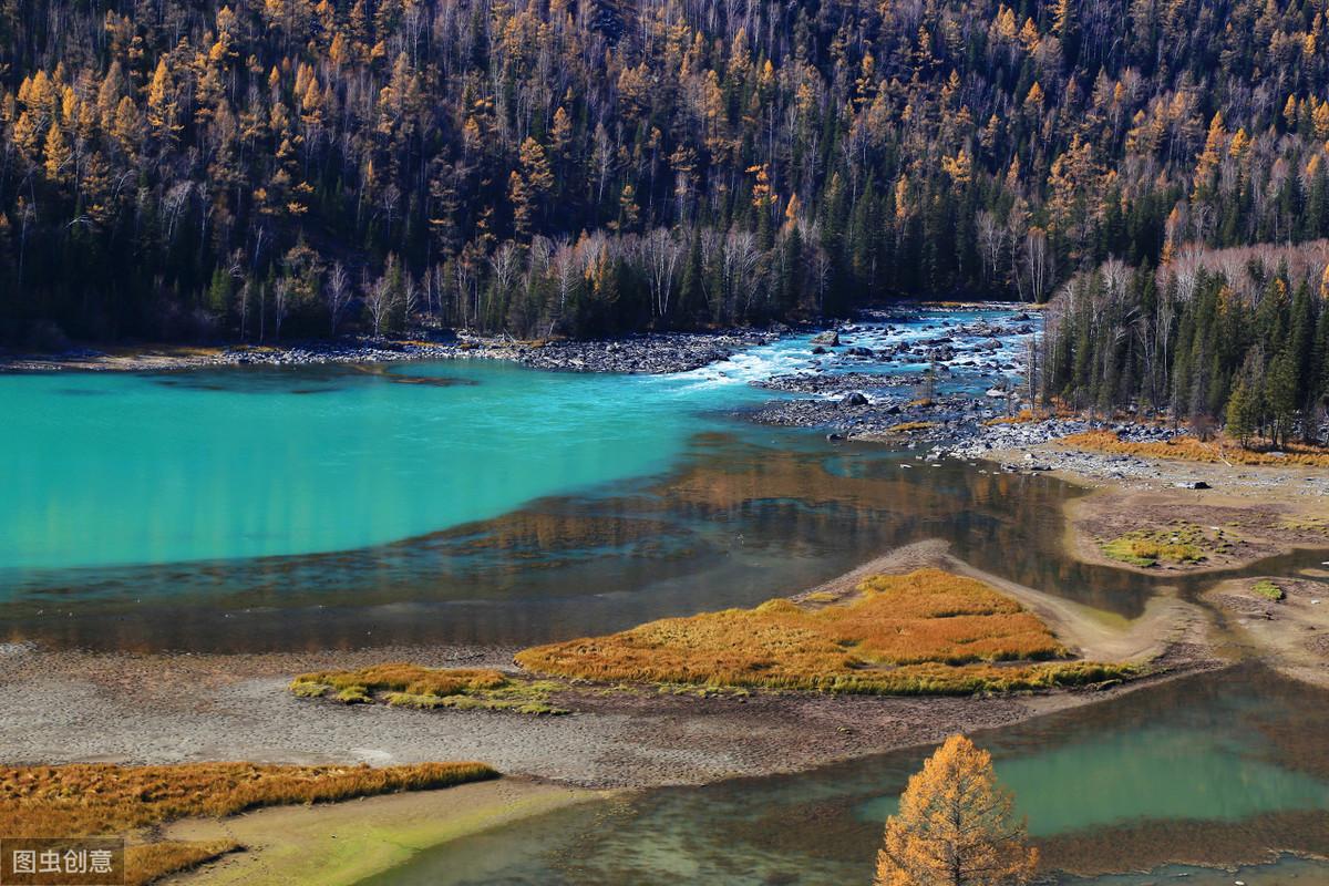
[(512, 671), (513, 648), (134, 655), (11, 646), (0, 704), (12, 713), (0, 723), (0, 760), (387, 765), (465, 757), (575, 788), (695, 785), (807, 770), (940, 741), (953, 732), (1011, 725), (1221, 667), (1205, 652), (1208, 626), (1189, 604), (1159, 598), (1140, 619), (1118, 622), (969, 567), (941, 542), (900, 549), (836, 580), (925, 563), (1017, 596), (1086, 656), (1152, 660), (1162, 671), (1102, 689), (987, 697), (698, 693), (647, 685), (605, 692), (573, 685), (558, 704), (574, 713), (548, 717), (339, 705), (287, 691), (300, 672), (389, 660)]

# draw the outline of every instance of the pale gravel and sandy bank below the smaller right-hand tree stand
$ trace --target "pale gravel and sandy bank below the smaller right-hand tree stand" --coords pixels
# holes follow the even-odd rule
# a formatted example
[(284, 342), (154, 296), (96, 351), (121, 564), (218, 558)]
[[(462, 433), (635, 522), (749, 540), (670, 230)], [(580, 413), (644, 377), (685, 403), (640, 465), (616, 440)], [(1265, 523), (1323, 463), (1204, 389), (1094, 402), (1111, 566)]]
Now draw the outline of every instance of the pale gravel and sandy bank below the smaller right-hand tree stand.
[[(1122, 456), (1059, 440), (993, 448), (978, 458), (999, 470), (1029, 470), (1033, 464), (1091, 490), (1066, 505), (1063, 545), (1071, 557), (1144, 575), (1211, 579), (1183, 603), (1209, 620), (1209, 654), (1253, 659), (1293, 680), (1329, 687), (1329, 509), (1322, 501), (1329, 472)], [(1114, 531), (1166, 530), (1176, 526), (1177, 515), (1209, 530), (1221, 526), (1235, 542), (1213, 561), (1155, 566), (1122, 562), (1102, 549)], [(1298, 551), (1324, 551), (1326, 562), (1280, 569), (1282, 558)], [(1272, 571), (1255, 574), (1264, 562)], [(1261, 580), (1273, 582), (1284, 599), (1257, 595), (1253, 588)]]

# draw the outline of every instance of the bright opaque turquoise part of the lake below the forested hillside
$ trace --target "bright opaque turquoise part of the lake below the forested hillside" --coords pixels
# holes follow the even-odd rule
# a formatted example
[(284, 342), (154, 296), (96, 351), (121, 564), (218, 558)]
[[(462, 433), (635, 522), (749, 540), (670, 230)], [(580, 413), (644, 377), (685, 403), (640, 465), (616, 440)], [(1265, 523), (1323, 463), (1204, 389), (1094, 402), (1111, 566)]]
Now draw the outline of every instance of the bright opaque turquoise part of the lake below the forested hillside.
[(706, 425), (707, 400), (668, 380), (462, 361), (0, 376), (0, 562), (381, 545), (659, 472)]

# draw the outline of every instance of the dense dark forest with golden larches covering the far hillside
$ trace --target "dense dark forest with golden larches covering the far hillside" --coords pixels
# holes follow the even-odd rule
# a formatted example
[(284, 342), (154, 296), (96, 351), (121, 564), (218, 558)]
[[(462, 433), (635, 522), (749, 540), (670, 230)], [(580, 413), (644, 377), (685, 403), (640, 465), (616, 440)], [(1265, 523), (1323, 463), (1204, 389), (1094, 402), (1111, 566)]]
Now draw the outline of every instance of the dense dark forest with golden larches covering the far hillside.
[[(0, 336), (1152, 310), (1188, 250), (1329, 235), (1326, 39), (1309, 0), (3, 0)], [(1215, 280), (1170, 339), (1245, 324)], [(1119, 337), (1049, 384), (1212, 413), (1251, 375)]]

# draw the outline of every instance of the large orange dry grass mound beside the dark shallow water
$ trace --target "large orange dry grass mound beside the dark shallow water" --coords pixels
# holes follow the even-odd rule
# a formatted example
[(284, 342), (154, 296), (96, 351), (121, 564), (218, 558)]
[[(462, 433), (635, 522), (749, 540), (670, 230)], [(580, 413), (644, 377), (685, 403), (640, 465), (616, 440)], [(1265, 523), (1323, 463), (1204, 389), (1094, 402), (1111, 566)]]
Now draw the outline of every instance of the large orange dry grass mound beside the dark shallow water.
[(1130, 672), (1035, 663), (1066, 655), (1015, 600), (982, 582), (924, 569), (870, 578), (848, 602), (808, 607), (776, 599), (754, 610), (662, 619), (525, 650), (517, 662), (599, 681), (864, 693), (1030, 689)]

